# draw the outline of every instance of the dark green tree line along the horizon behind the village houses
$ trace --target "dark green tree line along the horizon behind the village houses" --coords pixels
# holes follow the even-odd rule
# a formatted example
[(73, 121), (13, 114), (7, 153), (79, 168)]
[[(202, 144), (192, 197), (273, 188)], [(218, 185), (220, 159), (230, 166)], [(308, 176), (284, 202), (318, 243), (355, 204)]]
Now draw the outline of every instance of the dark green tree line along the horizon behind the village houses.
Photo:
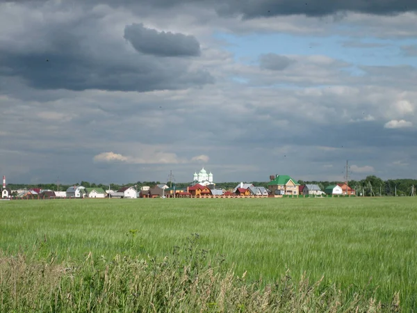
[[(298, 180), (300, 184), (317, 184), (322, 191), (329, 185), (339, 184), (340, 182), (329, 182), (329, 181), (304, 181), (302, 179)], [(248, 182), (249, 184), (253, 184), (254, 186), (263, 186), (268, 188), (268, 182)], [(66, 191), (67, 188), (70, 186), (84, 186), (86, 188), (89, 187), (99, 187), (107, 190), (110, 186), (111, 190), (119, 190), (123, 186), (136, 186), (137, 190), (140, 190), (142, 186), (150, 186), (154, 187), (157, 184), (161, 184), (161, 182), (133, 182), (129, 184), (95, 184), (94, 182), (76, 182), (74, 184), (8, 184), (8, 188), (12, 190), (17, 189), (30, 189), (30, 188), (40, 188), (40, 189), (49, 189), (52, 191)], [(184, 183), (173, 183), (173, 182), (166, 182), (167, 186), (175, 186), (175, 188), (187, 188), (187, 186), (191, 186), (192, 182), (184, 182)], [(215, 184), (215, 188), (219, 189), (226, 189), (230, 190), (238, 186), (240, 182), (220, 182)], [(357, 195), (411, 195), (411, 188), (413, 186), (417, 186), (417, 179), (388, 179), (383, 180), (375, 175), (367, 176), (365, 179), (361, 180), (350, 180), (348, 185), (351, 188), (357, 190)], [(416, 190), (414, 189), (414, 194)]]

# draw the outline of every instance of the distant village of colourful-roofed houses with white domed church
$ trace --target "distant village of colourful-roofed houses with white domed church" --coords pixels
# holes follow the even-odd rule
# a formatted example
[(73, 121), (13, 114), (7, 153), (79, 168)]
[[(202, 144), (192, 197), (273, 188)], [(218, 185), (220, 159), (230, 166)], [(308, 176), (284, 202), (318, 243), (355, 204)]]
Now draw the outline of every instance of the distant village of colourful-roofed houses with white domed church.
[(317, 184), (299, 184), (288, 175), (270, 175), (268, 188), (240, 182), (235, 188), (216, 188), (213, 174), (202, 168), (194, 173), (193, 182), (186, 188), (176, 188), (170, 184), (155, 186), (123, 186), (118, 190), (101, 187), (70, 186), (66, 191), (11, 190), (3, 176), (2, 199), (54, 199), (54, 198), (305, 198), (355, 196), (356, 191), (347, 182), (326, 186), (324, 190)]

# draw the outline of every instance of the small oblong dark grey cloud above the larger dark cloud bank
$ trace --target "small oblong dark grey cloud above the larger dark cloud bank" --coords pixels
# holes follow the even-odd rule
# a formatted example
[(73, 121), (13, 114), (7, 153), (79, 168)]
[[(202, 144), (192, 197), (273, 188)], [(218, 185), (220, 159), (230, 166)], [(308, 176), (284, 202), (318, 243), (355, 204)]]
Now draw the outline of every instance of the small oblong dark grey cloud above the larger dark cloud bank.
[(191, 35), (158, 32), (148, 29), (143, 24), (126, 25), (124, 38), (129, 40), (133, 47), (144, 54), (155, 56), (199, 56), (199, 42)]

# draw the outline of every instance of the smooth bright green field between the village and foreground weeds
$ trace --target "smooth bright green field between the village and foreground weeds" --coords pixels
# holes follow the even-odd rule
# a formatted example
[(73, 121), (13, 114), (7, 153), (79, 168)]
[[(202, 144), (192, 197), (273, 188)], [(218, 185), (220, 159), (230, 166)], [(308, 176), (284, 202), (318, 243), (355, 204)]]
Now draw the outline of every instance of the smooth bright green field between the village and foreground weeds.
[[(208, 259), (246, 279), (375, 290), (417, 307), (417, 198), (19, 200), (0, 202), (0, 250), (83, 262), (156, 256), (199, 234)], [(352, 287), (353, 286), (353, 287)]]

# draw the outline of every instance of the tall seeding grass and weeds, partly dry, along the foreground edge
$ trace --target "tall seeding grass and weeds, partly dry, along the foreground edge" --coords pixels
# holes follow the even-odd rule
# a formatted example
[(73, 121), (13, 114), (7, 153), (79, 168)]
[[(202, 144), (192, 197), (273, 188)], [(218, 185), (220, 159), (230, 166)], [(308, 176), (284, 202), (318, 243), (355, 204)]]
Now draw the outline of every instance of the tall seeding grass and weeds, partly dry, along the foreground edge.
[(245, 273), (206, 262), (189, 244), (161, 259), (116, 255), (58, 264), (54, 255), (34, 262), (0, 257), (1, 312), (400, 312), (398, 294), (381, 303), (366, 288), (348, 296), (336, 284), (281, 280), (247, 282)]

